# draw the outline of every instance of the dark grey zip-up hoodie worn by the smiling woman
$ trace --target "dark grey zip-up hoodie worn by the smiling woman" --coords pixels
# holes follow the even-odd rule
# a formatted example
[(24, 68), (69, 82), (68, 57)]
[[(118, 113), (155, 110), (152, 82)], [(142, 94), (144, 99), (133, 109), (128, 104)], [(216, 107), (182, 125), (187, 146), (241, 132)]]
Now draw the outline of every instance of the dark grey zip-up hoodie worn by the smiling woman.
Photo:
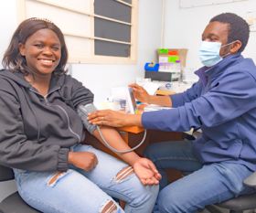
[(70, 146), (84, 140), (77, 107), (93, 94), (63, 74), (43, 97), (23, 74), (0, 70), (0, 164), (30, 171), (66, 171)]

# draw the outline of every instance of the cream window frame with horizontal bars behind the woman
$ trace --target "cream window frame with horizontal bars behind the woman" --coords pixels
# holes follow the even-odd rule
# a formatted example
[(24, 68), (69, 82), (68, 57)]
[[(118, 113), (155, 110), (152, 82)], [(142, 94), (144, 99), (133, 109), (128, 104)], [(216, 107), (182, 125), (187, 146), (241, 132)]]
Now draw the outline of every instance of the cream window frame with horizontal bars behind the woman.
[[(91, 42), (90, 44), (90, 55), (89, 56), (77, 56), (72, 57), (71, 54), (69, 54), (69, 63), (95, 63), (95, 64), (135, 64), (137, 62), (137, 26), (138, 26), (138, 1), (132, 0), (132, 4), (129, 4), (127, 2), (124, 2), (122, 0), (113, 0), (116, 2), (119, 2), (124, 5), (129, 5), (132, 8), (132, 16), (131, 16), (131, 23), (126, 23), (123, 21), (119, 21), (113, 18), (105, 17), (105, 16), (99, 16), (94, 14), (94, 0), (90, 1), (90, 13), (84, 12), (78, 9), (69, 8), (68, 6), (59, 5), (58, 3), (54, 3), (51, 0), (16, 0), (17, 2), (17, 16), (18, 21), (21, 22), (24, 19), (28, 18), (27, 16), (27, 9), (26, 9), (26, 3), (27, 2), (36, 2), (39, 4), (49, 5), (56, 9), (65, 10), (67, 12), (71, 12), (74, 14), (79, 14), (82, 16), (89, 16), (91, 18), (91, 32), (88, 33), (88, 35), (91, 36), (84, 36), (79, 34), (74, 34), (72, 32), (67, 32), (65, 29), (61, 28), (64, 37), (77, 37), (77, 38), (86, 38), (89, 39)], [(109, 20), (113, 22), (117, 22), (123, 25), (129, 25), (131, 26), (131, 42), (122, 42), (118, 40), (112, 40), (102, 37), (94, 37), (94, 17), (102, 18), (104, 20)], [(114, 43), (121, 43), (121, 44), (128, 44), (130, 45), (130, 57), (112, 57), (112, 56), (101, 56), (101, 55), (95, 55), (94, 52), (94, 40), (99, 39), (102, 41), (108, 41), (108, 42), (114, 42)]]

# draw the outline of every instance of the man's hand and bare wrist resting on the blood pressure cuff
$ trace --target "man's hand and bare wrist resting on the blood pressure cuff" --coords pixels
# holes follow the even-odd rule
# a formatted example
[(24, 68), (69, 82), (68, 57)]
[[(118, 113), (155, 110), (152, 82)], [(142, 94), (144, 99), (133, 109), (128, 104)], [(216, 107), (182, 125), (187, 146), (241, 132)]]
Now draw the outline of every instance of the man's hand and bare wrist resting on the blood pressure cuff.
[(112, 110), (91, 112), (88, 114), (88, 121), (95, 125), (107, 125), (112, 127), (141, 125), (140, 116)]

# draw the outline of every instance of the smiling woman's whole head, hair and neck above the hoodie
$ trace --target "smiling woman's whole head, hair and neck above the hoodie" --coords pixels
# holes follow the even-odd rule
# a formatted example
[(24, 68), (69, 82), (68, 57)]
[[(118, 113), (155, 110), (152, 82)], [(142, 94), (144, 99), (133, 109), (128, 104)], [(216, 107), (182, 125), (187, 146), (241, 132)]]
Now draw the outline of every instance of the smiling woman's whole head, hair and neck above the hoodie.
[[(5, 53), (4, 66), (25, 73), (24, 78), (43, 96), (48, 94), (53, 71), (65, 72), (68, 59), (64, 37), (59, 29), (47, 19), (29, 18), (17, 29), (18, 37)], [(12, 49), (18, 47), (16, 52)]]

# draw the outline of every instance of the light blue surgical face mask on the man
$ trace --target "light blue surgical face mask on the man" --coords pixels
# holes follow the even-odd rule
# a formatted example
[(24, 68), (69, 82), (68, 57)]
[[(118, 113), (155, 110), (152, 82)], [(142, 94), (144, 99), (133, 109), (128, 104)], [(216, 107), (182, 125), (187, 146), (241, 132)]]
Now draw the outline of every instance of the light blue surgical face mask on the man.
[[(223, 59), (223, 57), (219, 56), (219, 50), (220, 48), (224, 48), (232, 43), (230, 42), (227, 45), (224, 45), (221, 47), (220, 42), (210, 42), (210, 41), (203, 41), (201, 44), (201, 47), (199, 49), (199, 58), (203, 65), (206, 67), (212, 67), (219, 63)], [(228, 56), (229, 53), (225, 56)]]

